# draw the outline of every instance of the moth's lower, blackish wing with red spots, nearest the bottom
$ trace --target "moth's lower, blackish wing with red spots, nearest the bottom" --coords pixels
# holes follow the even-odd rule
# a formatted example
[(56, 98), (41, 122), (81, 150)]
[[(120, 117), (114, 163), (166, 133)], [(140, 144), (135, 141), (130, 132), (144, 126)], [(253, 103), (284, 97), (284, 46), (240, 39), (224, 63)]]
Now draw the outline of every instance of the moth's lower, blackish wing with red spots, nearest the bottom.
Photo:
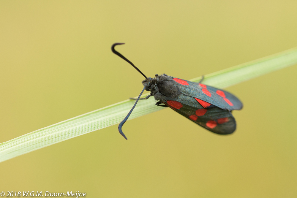
[(231, 134), (236, 129), (236, 121), (230, 111), (214, 106), (203, 108), (191, 96), (181, 94), (174, 100), (164, 102), (164, 104), (211, 132)]

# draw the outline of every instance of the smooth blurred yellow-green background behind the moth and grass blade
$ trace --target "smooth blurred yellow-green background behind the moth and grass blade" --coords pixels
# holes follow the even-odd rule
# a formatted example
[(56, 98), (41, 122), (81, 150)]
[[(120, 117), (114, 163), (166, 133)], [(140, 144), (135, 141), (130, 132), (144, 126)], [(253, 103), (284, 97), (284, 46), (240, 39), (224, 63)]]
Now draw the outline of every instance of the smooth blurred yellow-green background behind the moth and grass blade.
[[(297, 1), (1, 1), (0, 142), (137, 96), (140, 75), (191, 79), (297, 46)], [(0, 163), (0, 191), (87, 197), (296, 197), (296, 73), (232, 86), (219, 136), (165, 109)]]

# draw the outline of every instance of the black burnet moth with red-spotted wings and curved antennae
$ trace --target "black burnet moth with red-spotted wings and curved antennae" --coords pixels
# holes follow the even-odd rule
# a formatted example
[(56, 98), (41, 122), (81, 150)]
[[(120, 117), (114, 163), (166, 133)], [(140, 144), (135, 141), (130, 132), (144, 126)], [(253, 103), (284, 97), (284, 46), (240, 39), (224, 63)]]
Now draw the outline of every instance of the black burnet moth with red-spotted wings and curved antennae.
[[(119, 124), (120, 134), (127, 140), (122, 132), (122, 126), (129, 118), (138, 100), (154, 96), (157, 106), (170, 107), (177, 113), (185, 116), (203, 128), (217, 134), (231, 134), (236, 129), (236, 121), (232, 110), (241, 110), (242, 103), (236, 96), (208, 85), (175, 78), (166, 74), (155, 75), (154, 78), (146, 77), (131, 61), (117, 52), (114, 47), (124, 43), (114, 43), (111, 46), (113, 53), (131, 64), (146, 79), (142, 81), (143, 90), (128, 115)], [(151, 93), (145, 98), (140, 98), (143, 91)]]

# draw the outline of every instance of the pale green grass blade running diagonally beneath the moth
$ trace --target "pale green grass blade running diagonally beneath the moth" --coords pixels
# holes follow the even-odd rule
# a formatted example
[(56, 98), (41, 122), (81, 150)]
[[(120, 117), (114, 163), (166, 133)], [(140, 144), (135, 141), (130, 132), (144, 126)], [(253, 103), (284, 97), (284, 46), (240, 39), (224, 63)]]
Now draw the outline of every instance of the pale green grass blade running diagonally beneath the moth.
[[(205, 75), (204, 84), (217, 88), (228, 86), (285, 68), (297, 63), (297, 48), (257, 59)], [(192, 79), (198, 82), (201, 77)], [(38, 129), (0, 144), (0, 162), (68, 140), (79, 135), (103, 129), (122, 121), (135, 101), (125, 100), (77, 117)], [(153, 97), (140, 100), (129, 119), (161, 110)], [(124, 140), (123, 140), (124, 141)]]

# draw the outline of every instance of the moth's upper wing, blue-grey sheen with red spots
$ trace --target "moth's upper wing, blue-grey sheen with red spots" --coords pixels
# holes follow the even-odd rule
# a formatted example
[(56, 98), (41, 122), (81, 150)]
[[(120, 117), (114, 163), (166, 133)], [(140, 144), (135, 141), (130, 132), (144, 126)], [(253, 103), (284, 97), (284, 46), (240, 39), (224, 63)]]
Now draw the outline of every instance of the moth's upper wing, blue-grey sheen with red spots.
[(172, 82), (179, 87), (181, 93), (184, 95), (198, 98), (229, 111), (240, 110), (242, 108), (240, 100), (228, 91), (179, 78), (173, 78), (173, 80)]

